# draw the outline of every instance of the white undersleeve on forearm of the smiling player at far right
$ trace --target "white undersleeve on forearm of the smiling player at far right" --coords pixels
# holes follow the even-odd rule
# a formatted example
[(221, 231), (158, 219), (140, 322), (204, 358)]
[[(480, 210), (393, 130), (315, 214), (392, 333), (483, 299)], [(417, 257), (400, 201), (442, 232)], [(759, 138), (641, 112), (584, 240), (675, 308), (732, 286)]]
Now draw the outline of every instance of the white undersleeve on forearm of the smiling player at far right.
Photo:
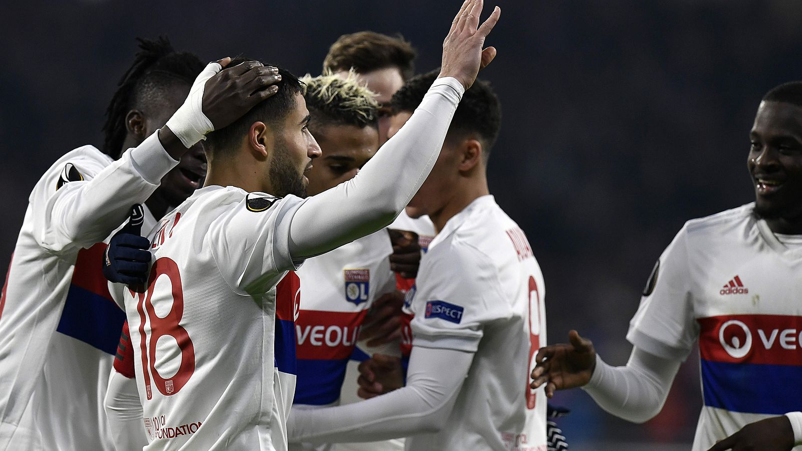
[(680, 359), (654, 356), (638, 347), (623, 367), (611, 367), (596, 355), (596, 369), (583, 389), (607, 412), (642, 423), (662, 409), (680, 364)]

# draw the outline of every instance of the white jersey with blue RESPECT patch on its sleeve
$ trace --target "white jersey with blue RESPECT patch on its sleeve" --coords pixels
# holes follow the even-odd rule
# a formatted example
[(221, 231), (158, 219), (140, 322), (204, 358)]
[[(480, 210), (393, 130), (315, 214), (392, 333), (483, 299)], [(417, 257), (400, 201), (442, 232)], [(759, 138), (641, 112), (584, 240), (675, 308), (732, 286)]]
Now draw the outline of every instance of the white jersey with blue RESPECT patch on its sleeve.
[(546, 449), (546, 398), (529, 388), (545, 285), (524, 232), (479, 197), (431, 242), (415, 284), (413, 345), (475, 354), (446, 427), (407, 437), (407, 449)]

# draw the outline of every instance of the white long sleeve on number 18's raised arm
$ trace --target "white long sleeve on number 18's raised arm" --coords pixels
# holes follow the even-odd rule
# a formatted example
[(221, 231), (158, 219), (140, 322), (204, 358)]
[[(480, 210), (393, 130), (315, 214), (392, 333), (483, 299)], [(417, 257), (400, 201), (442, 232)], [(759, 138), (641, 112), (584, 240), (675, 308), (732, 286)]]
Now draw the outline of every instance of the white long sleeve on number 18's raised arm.
[(407, 124), (356, 177), (306, 199), (290, 226), (293, 258), (323, 254), (390, 225), (431, 172), (463, 93), (453, 77), (436, 79)]

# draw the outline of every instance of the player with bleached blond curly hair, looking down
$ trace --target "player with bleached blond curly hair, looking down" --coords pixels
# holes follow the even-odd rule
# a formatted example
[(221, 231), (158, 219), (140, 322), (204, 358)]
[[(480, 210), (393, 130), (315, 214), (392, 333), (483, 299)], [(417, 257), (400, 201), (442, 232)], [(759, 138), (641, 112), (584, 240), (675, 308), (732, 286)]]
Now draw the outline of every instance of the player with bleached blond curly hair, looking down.
[[(358, 82), (353, 71), (346, 78), (307, 75), (302, 81), (306, 86), (306, 108), (310, 111), (310, 132), (322, 152), (307, 174), (307, 192), (314, 196), (353, 178), (375, 154), (379, 148), (378, 104), (373, 92)], [(338, 404), (346, 365), (368, 309), (379, 295), (395, 291), (395, 274), (388, 259), (392, 251), (387, 230), (379, 230), (309, 258), (298, 270), (302, 303), (295, 321), (298, 384), (294, 408)], [(415, 247), (418, 257), (419, 252)], [(399, 356), (399, 343), (368, 348), (367, 352)], [(354, 387), (355, 380), (354, 376)], [(378, 451), (388, 445), (391, 449), (403, 449), (403, 444), (370, 446)], [(352, 448), (290, 446), (290, 449), (320, 450)]]

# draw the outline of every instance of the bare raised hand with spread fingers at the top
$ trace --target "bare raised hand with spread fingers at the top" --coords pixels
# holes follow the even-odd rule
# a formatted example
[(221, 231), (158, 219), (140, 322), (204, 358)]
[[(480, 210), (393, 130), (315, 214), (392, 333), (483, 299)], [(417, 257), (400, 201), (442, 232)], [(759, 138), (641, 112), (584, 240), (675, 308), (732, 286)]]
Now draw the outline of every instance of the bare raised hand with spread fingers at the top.
[(496, 26), (501, 9), (496, 6), (490, 17), (479, 26), (482, 6), (484, 0), (465, 0), (443, 42), (443, 65), (439, 76), (454, 77), (466, 90), (476, 80), (480, 69), (496, 58), (495, 47), (482, 50), (482, 46), (490, 30)]

